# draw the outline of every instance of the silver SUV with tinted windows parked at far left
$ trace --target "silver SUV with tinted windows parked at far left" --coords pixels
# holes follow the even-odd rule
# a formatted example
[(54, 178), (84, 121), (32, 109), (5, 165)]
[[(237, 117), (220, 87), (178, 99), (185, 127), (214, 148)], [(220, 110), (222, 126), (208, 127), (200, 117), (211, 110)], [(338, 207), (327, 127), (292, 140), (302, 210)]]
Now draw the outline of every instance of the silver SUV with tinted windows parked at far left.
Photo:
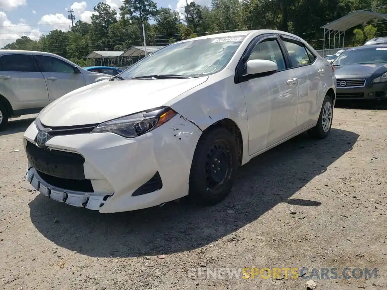
[(0, 49), (0, 130), (10, 117), (39, 113), (64, 94), (107, 78), (52, 53)]

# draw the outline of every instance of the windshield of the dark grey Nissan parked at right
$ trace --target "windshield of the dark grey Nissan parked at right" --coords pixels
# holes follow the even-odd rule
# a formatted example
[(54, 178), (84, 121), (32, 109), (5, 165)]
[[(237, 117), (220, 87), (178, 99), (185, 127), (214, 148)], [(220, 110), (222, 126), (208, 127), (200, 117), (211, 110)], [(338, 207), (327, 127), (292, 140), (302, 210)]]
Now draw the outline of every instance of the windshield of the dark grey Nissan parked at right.
[(356, 65), (360, 63), (387, 63), (387, 47), (373, 47), (344, 51), (332, 65)]

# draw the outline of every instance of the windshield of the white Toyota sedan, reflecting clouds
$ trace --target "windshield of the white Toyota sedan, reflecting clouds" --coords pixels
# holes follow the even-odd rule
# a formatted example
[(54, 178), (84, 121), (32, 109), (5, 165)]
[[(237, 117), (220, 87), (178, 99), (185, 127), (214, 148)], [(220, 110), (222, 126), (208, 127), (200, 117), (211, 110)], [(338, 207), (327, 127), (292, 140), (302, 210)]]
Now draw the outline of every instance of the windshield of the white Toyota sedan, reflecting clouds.
[(197, 39), (170, 44), (121, 73), (126, 80), (147, 75), (201, 77), (222, 70), (246, 36)]

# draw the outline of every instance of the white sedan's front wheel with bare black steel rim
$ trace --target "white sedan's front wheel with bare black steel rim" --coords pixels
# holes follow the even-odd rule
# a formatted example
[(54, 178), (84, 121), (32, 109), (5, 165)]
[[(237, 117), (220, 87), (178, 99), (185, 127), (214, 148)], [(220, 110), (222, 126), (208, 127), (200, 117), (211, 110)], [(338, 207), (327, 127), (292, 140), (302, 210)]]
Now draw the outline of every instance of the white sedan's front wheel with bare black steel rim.
[(234, 136), (225, 128), (205, 132), (195, 149), (189, 177), (191, 201), (214, 205), (231, 191), (238, 169), (238, 150)]

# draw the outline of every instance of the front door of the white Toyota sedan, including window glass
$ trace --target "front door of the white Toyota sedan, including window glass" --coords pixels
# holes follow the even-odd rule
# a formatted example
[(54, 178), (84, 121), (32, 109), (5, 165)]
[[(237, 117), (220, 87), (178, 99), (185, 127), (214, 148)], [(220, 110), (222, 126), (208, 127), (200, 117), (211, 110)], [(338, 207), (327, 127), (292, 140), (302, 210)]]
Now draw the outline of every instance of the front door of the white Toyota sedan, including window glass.
[(296, 75), (286, 67), (276, 37), (257, 43), (248, 60), (272, 60), (278, 71), (241, 82), (248, 117), (248, 153), (253, 155), (294, 133), (298, 90)]

